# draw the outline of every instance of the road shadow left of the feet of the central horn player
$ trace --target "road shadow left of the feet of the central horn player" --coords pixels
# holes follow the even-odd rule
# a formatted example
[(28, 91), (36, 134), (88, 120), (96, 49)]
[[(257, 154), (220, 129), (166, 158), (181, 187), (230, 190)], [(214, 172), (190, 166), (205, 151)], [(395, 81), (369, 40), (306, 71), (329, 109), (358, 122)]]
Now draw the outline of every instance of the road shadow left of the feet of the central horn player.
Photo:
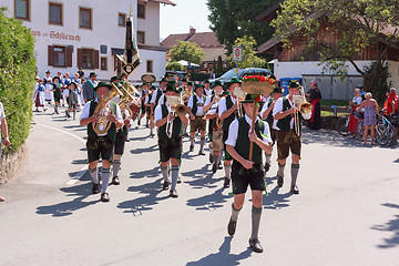
[[(143, 212), (153, 209), (154, 205), (157, 205), (161, 201), (168, 198), (167, 196), (158, 196), (162, 193), (162, 180), (146, 183), (139, 186), (131, 186), (127, 192), (139, 192), (139, 194), (145, 194), (142, 197), (136, 197), (131, 201), (121, 202), (117, 204), (119, 208), (124, 209), (123, 213), (131, 213), (134, 216), (143, 215)], [(167, 193), (167, 192), (165, 192)]]

